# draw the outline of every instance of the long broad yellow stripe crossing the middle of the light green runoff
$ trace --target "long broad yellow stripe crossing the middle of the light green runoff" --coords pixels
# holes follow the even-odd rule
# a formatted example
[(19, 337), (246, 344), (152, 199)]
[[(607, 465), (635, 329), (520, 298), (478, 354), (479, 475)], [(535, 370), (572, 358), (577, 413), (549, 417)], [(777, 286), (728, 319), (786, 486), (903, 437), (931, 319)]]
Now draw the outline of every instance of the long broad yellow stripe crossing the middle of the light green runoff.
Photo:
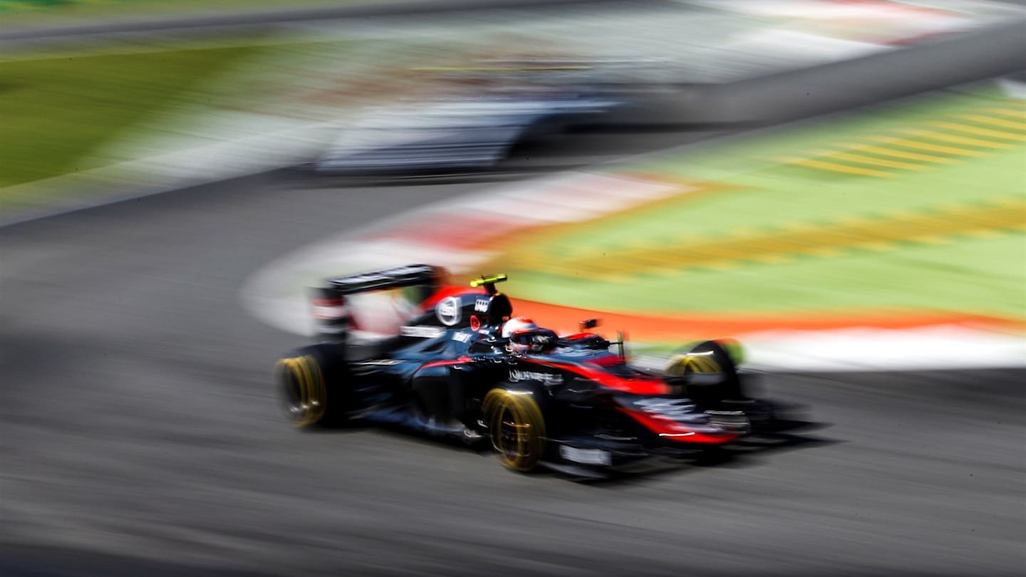
[(829, 258), (850, 249), (890, 252), (903, 242), (945, 244), (952, 235), (1008, 234), (1026, 226), (1026, 198), (994, 199), (986, 204), (945, 204), (931, 210), (899, 210), (881, 218), (845, 218), (829, 223), (793, 223), (787, 228), (749, 231), (747, 235), (668, 239), (658, 247), (634, 244), (616, 252), (541, 259), (511, 254), (513, 268), (565, 274), (588, 270), (599, 278), (624, 278), (639, 272), (660, 274), (696, 269), (731, 270), (752, 263), (780, 265), (798, 258)]

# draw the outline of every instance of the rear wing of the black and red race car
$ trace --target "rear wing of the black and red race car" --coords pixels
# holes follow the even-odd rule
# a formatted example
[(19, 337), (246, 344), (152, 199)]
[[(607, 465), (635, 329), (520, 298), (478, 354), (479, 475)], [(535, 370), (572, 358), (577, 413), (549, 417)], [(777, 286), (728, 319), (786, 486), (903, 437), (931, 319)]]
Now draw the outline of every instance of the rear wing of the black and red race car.
[[(311, 291), (313, 316), (317, 321), (317, 333), (322, 339), (345, 340), (351, 330), (382, 333), (367, 324), (367, 316), (380, 319), (381, 311), (362, 315), (353, 307), (354, 296), (361, 293), (385, 292), (393, 288), (415, 287), (411, 304), (417, 304), (433, 294), (445, 283), (445, 269), (432, 265), (407, 265), (348, 276), (328, 278), (319, 287)], [(356, 297), (359, 300), (359, 297)], [(398, 319), (403, 320), (403, 319)], [(378, 330), (376, 330), (378, 329)]]

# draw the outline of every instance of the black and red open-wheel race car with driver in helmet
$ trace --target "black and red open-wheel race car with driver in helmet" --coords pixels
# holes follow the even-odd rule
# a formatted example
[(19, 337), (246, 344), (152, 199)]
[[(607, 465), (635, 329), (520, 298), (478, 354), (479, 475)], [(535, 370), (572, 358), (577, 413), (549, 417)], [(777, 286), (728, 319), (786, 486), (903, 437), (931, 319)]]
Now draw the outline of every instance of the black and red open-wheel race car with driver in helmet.
[(327, 280), (312, 299), (321, 342), (276, 367), (289, 419), (399, 424), (490, 444), (518, 471), (578, 474), (693, 456), (772, 421), (720, 343), (663, 371), (634, 367), (622, 338), (587, 332), (596, 320), (559, 336), (514, 316), (505, 279), (451, 286), (439, 267), (409, 265)]

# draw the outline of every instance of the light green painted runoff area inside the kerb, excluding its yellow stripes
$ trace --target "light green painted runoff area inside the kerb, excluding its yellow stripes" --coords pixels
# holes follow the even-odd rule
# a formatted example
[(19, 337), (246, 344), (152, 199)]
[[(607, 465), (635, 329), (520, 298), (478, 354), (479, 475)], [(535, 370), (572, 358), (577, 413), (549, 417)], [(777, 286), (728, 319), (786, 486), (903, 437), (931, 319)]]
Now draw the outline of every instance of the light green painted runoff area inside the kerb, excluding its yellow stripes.
[[(1026, 130), (1007, 130), (1011, 136), (1000, 141), (1009, 145), (1004, 148), (947, 143), (979, 151), (981, 156), (951, 156), (950, 162), (923, 163), (925, 169), (894, 170), (893, 178), (833, 172), (781, 160), (840, 150), (842, 143), (875, 146), (879, 144), (875, 138), (911, 138), (903, 130), (933, 130), (937, 128), (934, 122), (957, 121), (976, 129), (987, 124), (965, 116), (995, 107), (1023, 110), (1021, 103), (984, 90), (618, 166), (617, 170), (673, 176), (724, 188), (542, 231), (522, 239), (515, 253), (494, 263), (511, 273), (517, 295), (523, 298), (598, 310), (816, 313), (876, 309), (1026, 319), (1026, 235), (1022, 228), (1026, 224), (1026, 146), (1015, 138), (1026, 136)], [(947, 133), (983, 140), (974, 133)], [(922, 152), (895, 146), (899, 151)], [(819, 227), (829, 234), (856, 217), (881, 223), (886, 230), (891, 223), (901, 226), (902, 218), (909, 216), (958, 215), (996, 202), (1008, 206), (1007, 216), (978, 234), (951, 232), (946, 227), (957, 226), (958, 219), (949, 219), (939, 225), (936, 236), (910, 235), (875, 248), (860, 246), (856, 239), (832, 256), (799, 251), (784, 255), (779, 263), (740, 258), (721, 269), (681, 266), (674, 261), (678, 258), (674, 255), (686, 261), (687, 252), (700, 249), (700, 242), (708, 246), (747, 236), (770, 243), (775, 234), (795, 226)], [(816, 237), (810, 240), (815, 242)], [(632, 251), (668, 245), (676, 246), (676, 253), (657, 267), (635, 267), (611, 276), (594, 274), (587, 266), (618, 263), (618, 259), (628, 262)], [(754, 249), (752, 257), (758, 256)], [(504, 262), (513, 266), (503, 266)]]

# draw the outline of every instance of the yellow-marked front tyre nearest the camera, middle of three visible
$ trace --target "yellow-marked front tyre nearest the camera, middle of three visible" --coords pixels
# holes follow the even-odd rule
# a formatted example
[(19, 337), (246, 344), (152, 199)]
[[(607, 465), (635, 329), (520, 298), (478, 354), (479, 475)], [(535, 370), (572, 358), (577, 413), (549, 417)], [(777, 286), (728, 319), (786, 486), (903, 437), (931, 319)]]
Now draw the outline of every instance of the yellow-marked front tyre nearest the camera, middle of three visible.
[(548, 446), (545, 416), (535, 395), (495, 388), (481, 402), (496, 457), (504, 467), (520, 472), (541, 464)]

